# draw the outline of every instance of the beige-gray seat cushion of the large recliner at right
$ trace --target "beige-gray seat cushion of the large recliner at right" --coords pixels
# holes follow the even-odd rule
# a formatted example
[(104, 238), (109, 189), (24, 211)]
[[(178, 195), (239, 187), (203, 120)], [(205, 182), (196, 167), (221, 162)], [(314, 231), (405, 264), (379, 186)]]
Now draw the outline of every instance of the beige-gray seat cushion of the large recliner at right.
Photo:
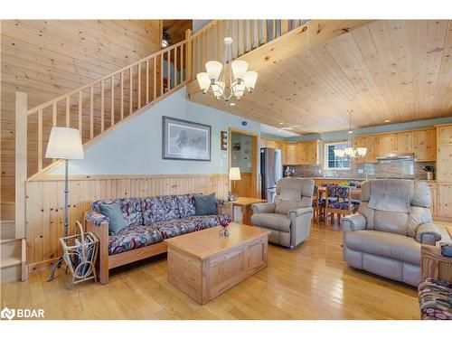
[(420, 245), (410, 237), (383, 231), (347, 232), (346, 246), (377, 256), (406, 261), (413, 265), (420, 263)]

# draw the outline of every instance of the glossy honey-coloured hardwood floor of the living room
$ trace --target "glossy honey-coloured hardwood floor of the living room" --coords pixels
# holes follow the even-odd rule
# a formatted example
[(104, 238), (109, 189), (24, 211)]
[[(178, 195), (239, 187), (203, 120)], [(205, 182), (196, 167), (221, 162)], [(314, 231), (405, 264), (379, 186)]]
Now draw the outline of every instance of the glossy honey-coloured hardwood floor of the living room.
[(66, 288), (60, 269), (1, 287), (2, 307), (43, 308), (47, 319), (419, 319), (415, 287), (349, 268), (338, 227), (313, 224), (287, 250), (268, 246), (268, 268), (204, 306), (172, 286), (166, 257), (118, 268), (108, 285)]

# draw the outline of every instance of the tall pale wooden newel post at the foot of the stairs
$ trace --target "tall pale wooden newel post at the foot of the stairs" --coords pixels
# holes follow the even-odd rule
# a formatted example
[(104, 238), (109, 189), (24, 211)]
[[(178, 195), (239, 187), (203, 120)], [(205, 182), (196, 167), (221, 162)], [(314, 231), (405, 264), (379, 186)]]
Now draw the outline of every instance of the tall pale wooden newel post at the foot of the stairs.
[(15, 238), (25, 238), (27, 180), (27, 95), (15, 92)]

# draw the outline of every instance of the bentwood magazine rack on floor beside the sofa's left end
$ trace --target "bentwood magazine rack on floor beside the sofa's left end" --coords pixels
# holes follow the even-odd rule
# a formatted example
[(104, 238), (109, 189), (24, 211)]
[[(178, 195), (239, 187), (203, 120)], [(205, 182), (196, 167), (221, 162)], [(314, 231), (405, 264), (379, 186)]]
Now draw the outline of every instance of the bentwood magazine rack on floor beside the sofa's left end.
[(92, 232), (83, 232), (79, 221), (76, 221), (76, 224), (80, 234), (60, 239), (64, 261), (71, 270), (72, 286), (92, 278), (98, 281), (95, 263), (99, 239)]

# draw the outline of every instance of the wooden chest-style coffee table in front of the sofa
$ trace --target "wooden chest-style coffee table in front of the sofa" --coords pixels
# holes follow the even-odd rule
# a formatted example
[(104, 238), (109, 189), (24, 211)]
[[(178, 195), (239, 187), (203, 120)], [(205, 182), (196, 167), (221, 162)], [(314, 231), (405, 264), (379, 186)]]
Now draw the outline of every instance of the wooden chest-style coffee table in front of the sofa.
[(205, 304), (267, 267), (268, 231), (232, 222), (230, 235), (221, 226), (165, 240), (168, 280)]

